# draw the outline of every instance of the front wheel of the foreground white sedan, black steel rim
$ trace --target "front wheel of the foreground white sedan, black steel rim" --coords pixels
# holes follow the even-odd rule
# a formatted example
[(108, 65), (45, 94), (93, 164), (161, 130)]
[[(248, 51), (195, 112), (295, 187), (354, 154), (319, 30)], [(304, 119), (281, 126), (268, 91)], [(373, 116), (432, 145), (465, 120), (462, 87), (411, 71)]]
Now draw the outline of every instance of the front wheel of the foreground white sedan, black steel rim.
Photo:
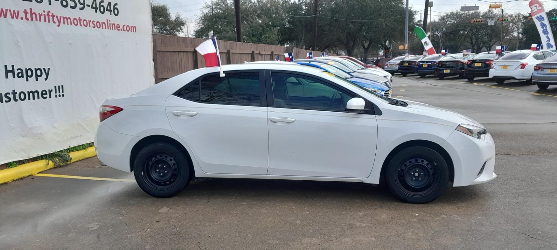
[(390, 192), (401, 201), (428, 203), (447, 188), (449, 171), (441, 154), (433, 149), (409, 147), (390, 160), (385, 180)]

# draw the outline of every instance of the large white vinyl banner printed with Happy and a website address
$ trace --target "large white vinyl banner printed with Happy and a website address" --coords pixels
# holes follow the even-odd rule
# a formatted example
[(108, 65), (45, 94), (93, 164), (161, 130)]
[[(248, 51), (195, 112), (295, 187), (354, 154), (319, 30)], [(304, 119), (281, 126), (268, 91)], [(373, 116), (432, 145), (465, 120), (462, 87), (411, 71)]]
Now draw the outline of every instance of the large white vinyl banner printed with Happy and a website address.
[(154, 84), (149, 0), (2, 0), (0, 31), (0, 164), (92, 142)]

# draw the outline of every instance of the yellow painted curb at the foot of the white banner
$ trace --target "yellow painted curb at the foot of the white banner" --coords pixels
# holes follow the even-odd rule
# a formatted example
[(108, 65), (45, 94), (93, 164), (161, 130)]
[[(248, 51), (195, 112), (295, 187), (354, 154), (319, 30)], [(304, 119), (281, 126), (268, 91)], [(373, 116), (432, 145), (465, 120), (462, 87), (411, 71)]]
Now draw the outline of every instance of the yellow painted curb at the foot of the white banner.
[[(80, 151), (71, 152), (71, 161), (69, 163), (81, 161), (82, 159), (87, 159), (94, 156), (96, 156), (95, 147), (89, 147)], [(0, 170), (0, 184), (12, 182), (16, 179), (21, 179), (27, 176), (32, 176), (42, 171), (47, 171), (48, 169), (54, 168), (54, 166), (54, 162), (43, 159), (40, 161), (21, 164), (14, 168), (3, 169)]]

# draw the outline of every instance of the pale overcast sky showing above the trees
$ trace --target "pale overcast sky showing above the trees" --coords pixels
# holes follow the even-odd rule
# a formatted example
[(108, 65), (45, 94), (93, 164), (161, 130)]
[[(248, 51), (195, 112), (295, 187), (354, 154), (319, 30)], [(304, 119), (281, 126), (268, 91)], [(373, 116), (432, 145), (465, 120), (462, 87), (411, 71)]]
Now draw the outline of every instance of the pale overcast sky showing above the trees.
[[(170, 12), (172, 13), (179, 13), (182, 15), (183, 18), (189, 19), (189, 35), (192, 35), (194, 24), (197, 21), (198, 15), (201, 13), (201, 8), (203, 7), (205, 2), (211, 2), (211, 0), (152, 0), (154, 3), (164, 3), (167, 4), (170, 8)], [(487, 1), (487, 0), (486, 0)], [(501, 2), (506, 2), (509, 0), (503, 0)], [(410, 8), (413, 8), (417, 11), (422, 11), (425, 5), (424, 0), (409, 0)], [(480, 11), (483, 11), (488, 8), (489, 3), (484, 1), (478, 0), (432, 0), (433, 7), (431, 8), (432, 11), (432, 19), (436, 19), (437, 16), (442, 15), (442, 13), (450, 12), (450, 11), (460, 11), (461, 6), (480, 6)], [(505, 12), (523, 12), (526, 13), (529, 11), (528, 3), (530, 1), (515, 1), (509, 3), (503, 3), (503, 8)], [(546, 10), (557, 8), (557, 1), (552, 2), (544, 2), (544, 7)], [(418, 14), (419, 15), (419, 14)]]

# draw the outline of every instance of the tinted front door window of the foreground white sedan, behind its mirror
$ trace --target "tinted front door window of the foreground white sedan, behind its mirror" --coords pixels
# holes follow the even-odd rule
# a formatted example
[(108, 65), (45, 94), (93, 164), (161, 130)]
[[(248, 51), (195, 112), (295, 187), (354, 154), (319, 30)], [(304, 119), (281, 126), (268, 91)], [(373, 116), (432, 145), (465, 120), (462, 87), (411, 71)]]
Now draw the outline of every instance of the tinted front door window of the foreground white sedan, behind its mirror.
[(346, 103), (353, 97), (314, 77), (272, 73), (271, 80), (275, 107), (344, 112)]

